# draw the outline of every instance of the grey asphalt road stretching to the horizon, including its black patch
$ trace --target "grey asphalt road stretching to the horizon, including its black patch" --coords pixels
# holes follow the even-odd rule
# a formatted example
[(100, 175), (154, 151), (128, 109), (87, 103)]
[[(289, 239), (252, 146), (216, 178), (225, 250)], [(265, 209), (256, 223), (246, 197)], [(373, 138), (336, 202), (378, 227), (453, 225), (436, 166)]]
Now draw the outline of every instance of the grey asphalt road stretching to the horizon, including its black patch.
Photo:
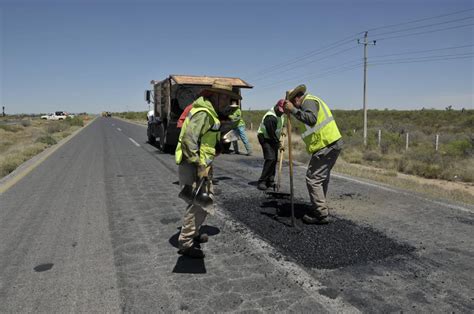
[(333, 223), (308, 226), (295, 167), (292, 228), (255, 188), (261, 158), (223, 155), (191, 260), (173, 157), (98, 118), (1, 194), (0, 312), (474, 311), (472, 207), (334, 175)]

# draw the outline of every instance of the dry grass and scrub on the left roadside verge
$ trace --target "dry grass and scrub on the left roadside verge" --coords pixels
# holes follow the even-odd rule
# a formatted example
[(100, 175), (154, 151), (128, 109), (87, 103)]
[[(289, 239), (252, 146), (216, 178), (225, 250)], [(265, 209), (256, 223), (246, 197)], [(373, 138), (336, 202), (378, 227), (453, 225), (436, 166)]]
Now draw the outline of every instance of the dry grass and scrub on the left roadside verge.
[(79, 128), (63, 121), (41, 119), (0, 125), (0, 178)]

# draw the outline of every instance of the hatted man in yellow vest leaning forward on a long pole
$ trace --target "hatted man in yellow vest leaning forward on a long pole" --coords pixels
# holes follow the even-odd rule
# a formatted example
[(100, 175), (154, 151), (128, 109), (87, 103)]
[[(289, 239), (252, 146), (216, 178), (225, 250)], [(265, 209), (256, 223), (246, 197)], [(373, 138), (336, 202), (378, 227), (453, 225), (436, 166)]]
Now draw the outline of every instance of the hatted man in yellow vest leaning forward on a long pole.
[(306, 86), (299, 85), (288, 92), (285, 111), (303, 122), (301, 137), (311, 154), (306, 186), (313, 205), (312, 211), (303, 216), (309, 224), (328, 223), (328, 191), (331, 169), (342, 149), (342, 140), (331, 110), (320, 98), (306, 93)]

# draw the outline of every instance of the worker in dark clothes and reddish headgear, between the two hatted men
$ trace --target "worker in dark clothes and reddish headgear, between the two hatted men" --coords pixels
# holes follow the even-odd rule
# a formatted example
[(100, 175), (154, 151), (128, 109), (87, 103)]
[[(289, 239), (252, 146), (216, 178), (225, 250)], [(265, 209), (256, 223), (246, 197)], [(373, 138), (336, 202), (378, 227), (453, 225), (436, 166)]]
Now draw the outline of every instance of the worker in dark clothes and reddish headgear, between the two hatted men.
[(262, 146), (263, 164), (262, 175), (258, 179), (259, 190), (265, 191), (275, 185), (275, 168), (278, 160), (278, 151), (282, 148), (281, 133), (285, 124), (284, 99), (268, 110), (262, 118), (257, 131), (258, 142)]

